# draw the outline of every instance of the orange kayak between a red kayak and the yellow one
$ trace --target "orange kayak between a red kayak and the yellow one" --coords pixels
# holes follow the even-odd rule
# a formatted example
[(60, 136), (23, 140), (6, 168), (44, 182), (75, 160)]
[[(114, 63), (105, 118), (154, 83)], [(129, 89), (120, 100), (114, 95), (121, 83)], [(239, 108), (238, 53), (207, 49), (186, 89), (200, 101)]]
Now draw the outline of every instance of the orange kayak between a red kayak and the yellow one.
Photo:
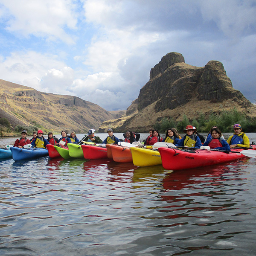
[(117, 163), (132, 162), (131, 150), (128, 147), (108, 144), (107, 151), (111, 151), (113, 160)]

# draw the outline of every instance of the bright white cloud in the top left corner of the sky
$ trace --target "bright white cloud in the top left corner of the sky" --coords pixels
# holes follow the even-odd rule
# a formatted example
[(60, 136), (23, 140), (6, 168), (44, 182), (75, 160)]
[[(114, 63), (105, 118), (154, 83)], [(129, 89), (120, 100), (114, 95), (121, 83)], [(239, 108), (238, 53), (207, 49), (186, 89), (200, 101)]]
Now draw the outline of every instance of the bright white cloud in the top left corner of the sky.
[(6, 12), (2, 12), (9, 32), (28, 37), (61, 39), (67, 44), (74, 44), (74, 38), (68, 35), (64, 27), (76, 29), (77, 14), (71, 0), (1, 0)]

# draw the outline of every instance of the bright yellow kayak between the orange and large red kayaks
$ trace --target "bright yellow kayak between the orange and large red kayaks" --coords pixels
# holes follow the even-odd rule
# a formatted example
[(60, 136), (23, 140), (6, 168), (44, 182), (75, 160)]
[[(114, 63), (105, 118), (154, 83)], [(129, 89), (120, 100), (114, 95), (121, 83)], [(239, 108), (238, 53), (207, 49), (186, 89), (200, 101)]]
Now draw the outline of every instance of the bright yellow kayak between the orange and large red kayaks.
[(162, 163), (159, 151), (148, 148), (130, 148), (136, 166), (154, 166)]

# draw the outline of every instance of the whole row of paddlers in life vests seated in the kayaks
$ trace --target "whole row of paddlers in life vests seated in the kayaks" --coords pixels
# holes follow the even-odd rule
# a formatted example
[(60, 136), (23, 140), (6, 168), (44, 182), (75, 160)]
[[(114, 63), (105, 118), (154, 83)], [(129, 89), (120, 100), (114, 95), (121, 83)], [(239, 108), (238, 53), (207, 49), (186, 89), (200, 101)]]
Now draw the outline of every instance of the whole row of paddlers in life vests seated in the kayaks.
[[(166, 142), (172, 143), (180, 147), (188, 148), (200, 148), (201, 146), (209, 146), (210, 148), (220, 149), (220, 150), (230, 150), (234, 147), (250, 147), (249, 138), (242, 132), (240, 124), (235, 124), (233, 126), (234, 134), (231, 135), (226, 141), (221, 134), (220, 129), (217, 126), (212, 126), (209, 133), (207, 134), (206, 139), (200, 134), (198, 134), (197, 129), (192, 125), (187, 125), (183, 130), (185, 133), (184, 137), (181, 137), (178, 134), (177, 129), (169, 128), (166, 131), (166, 136), (162, 138), (157, 131), (157, 129), (149, 129), (149, 136), (144, 142), (144, 145), (154, 145), (157, 142)], [(124, 141), (127, 143), (133, 143), (139, 141), (140, 134), (134, 133), (132, 131), (126, 131), (123, 139), (118, 139), (114, 134), (113, 130), (110, 128), (107, 130), (108, 137), (102, 142), (100, 137), (95, 136), (95, 130), (90, 129), (88, 133), (84, 136), (82, 140), (79, 140), (76, 137), (75, 132), (71, 132), (70, 135), (67, 135), (66, 131), (61, 131), (61, 138), (57, 139), (52, 132), (48, 133), (48, 138), (45, 139), (43, 136), (43, 131), (38, 130), (38, 132), (33, 133), (31, 140), (27, 139), (27, 131), (23, 130), (21, 132), (21, 138), (15, 141), (15, 147), (24, 147), (26, 144), (31, 144), (32, 147), (45, 148), (47, 144), (52, 145), (67, 145), (67, 143), (84, 143), (84, 142), (93, 142), (93, 143), (103, 143), (103, 144), (118, 144), (119, 141)]]

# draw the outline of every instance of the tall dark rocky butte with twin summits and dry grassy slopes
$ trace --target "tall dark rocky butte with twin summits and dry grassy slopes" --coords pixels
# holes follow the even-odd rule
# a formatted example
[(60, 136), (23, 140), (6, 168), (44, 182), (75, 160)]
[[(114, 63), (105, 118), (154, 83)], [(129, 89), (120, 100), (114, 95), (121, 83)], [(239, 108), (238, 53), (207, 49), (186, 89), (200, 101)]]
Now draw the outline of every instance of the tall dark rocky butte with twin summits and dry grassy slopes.
[(209, 61), (204, 67), (195, 67), (186, 64), (182, 54), (170, 52), (151, 69), (149, 81), (126, 114), (103, 122), (99, 131), (109, 127), (120, 132), (148, 131), (165, 117), (179, 121), (186, 114), (192, 120), (200, 113), (207, 117), (234, 106), (245, 116), (256, 116), (255, 106), (233, 88), (221, 62)]

